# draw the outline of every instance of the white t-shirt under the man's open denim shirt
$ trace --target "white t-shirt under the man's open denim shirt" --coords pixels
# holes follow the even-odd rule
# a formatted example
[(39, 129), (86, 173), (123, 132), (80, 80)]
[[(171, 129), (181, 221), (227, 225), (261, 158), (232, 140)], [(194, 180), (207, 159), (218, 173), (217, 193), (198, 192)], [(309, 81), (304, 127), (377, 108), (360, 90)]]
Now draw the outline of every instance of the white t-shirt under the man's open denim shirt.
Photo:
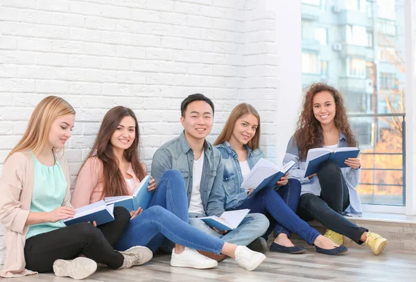
[(202, 152), (202, 155), (198, 160), (193, 161), (192, 195), (191, 195), (191, 202), (189, 203), (189, 213), (205, 213), (204, 206), (202, 206), (201, 191), (200, 191), (203, 166), (204, 166), (204, 152)]

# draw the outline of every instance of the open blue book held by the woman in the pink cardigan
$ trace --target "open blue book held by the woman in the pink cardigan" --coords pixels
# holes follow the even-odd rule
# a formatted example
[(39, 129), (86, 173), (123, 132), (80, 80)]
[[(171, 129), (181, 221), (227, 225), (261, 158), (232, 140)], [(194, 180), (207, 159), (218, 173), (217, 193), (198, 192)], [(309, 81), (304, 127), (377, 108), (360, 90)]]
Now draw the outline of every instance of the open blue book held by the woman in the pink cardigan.
[(147, 209), (152, 191), (147, 190), (150, 182), (150, 175), (146, 175), (143, 180), (135, 188), (132, 196), (114, 196), (105, 197), (105, 204), (114, 204), (114, 206), (124, 206), (128, 211), (136, 211), (141, 206), (141, 209)]

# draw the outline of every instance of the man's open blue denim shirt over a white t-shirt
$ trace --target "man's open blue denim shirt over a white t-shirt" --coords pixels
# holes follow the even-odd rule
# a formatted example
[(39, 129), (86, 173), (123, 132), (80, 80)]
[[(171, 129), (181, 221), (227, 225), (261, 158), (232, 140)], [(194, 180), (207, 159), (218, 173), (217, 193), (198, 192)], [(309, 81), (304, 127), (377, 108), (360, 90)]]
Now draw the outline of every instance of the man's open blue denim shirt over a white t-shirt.
[[(184, 132), (179, 137), (164, 143), (157, 149), (152, 161), (151, 175), (158, 183), (168, 169), (176, 169), (182, 173), (187, 188), (188, 206), (192, 195), (193, 150), (189, 146)], [(204, 164), (200, 183), (202, 206), (206, 214), (189, 213), (190, 217), (205, 215), (221, 215), (224, 209), (223, 189), (224, 166), (220, 152), (211, 143), (204, 143)]]

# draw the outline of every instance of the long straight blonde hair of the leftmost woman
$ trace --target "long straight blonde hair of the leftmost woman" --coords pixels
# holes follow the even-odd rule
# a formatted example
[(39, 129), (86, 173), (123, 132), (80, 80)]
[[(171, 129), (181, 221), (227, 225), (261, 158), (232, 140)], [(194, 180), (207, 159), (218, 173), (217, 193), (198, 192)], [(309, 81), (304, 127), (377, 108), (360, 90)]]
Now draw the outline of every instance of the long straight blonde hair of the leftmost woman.
[(8, 154), (6, 160), (15, 152), (27, 149), (31, 149), (34, 154), (41, 152), (49, 142), (49, 131), (53, 120), (68, 114), (75, 114), (75, 110), (66, 100), (56, 96), (42, 99), (35, 107), (19, 143)]

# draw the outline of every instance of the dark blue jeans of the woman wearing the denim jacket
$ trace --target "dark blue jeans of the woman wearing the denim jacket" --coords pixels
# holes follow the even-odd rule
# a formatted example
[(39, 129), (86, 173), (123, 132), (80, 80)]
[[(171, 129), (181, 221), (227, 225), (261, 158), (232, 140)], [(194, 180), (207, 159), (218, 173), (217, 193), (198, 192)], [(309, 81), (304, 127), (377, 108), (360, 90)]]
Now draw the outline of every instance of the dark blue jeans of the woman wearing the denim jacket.
[(235, 206), (232, 209), (250, 209), (250, 213), (270, 213), (272, 218), (274, 218), (276, 222), (279, 222), (282, 227), (296, 233), (309, 245), (313, 245), (315, 239), (320, 236), (318, 231), (301, 220), (299, 216), (289, 208), (272, 187), (264, 188), (253, 197), (245, 199), (241, 205)]

